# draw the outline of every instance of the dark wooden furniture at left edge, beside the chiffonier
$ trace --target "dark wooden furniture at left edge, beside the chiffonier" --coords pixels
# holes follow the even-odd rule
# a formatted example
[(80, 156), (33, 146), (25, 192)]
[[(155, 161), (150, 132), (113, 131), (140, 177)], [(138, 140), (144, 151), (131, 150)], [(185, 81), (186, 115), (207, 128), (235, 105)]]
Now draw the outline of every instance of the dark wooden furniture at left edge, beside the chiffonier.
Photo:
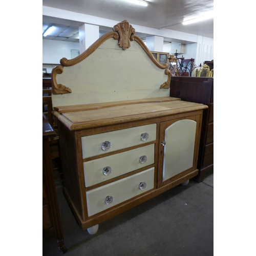
[(55, 234), (60, 251), (67, 252), (63, 241), (58, 200), (53, 177), (49, 139), (56, 136), (45, 115), (42, 116), (42, 235)]

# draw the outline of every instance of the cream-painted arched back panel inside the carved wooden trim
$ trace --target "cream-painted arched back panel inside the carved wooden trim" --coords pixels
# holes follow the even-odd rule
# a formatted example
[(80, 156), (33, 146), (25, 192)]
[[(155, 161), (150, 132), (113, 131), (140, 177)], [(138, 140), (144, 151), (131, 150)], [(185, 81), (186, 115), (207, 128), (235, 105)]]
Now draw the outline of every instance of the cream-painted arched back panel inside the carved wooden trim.
[(72, 93), (52, 95), (53, 106), (167, 97), (169, 89), (159, 89), (167, 79), (164, 69), (153, 63), (137, 41), (122, 50), (118, 40), (110, 38), (86, 59), (56, 75), (57, 83)]

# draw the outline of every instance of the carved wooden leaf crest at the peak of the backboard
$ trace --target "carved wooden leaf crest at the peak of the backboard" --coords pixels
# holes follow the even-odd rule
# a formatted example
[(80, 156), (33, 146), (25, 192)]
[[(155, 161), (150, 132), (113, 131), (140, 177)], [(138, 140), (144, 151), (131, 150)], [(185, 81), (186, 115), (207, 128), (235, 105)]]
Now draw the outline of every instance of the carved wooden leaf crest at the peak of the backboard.
[(131, 46), (130, 37), (132, 34), (135, 34), (135, 29), (132, 25), (127, 22), (127, 20), (123, 20), (113, 27), (113, 30), (116, 31), (119, 35), (118, 45), (123, 49), (127, 49)]

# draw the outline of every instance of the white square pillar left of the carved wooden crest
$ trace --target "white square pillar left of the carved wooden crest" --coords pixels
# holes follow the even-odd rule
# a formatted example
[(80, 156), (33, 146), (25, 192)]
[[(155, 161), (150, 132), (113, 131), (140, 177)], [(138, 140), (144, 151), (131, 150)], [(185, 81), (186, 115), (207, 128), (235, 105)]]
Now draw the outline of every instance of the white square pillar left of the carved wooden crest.
[(79, 27), (80, 54), (89, 48), (99, 38), (99, 26), (83, 24)]

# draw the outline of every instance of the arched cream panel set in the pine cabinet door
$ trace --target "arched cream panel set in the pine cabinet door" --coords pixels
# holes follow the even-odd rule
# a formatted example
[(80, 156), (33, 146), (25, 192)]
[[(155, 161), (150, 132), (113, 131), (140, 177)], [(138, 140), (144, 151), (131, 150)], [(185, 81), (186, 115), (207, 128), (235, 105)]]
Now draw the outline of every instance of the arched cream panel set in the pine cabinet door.
[(197, 123), (179, 120), (165, 130), (163, 181), (193, 166)]

